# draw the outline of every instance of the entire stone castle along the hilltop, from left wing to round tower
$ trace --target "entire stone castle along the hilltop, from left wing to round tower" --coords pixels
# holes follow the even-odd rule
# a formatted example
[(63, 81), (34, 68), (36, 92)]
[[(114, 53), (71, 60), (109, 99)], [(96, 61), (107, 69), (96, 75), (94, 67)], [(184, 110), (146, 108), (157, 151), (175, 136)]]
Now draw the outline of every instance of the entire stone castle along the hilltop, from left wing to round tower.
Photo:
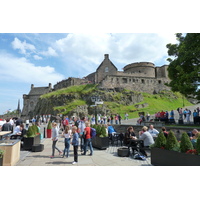
[(109, 59), (109, 55), (105, 54), (104, 60), (96, 69), (96, 72), (84, 78), (69, 77), (55, 84), (53, 89), (50, 83), (48, 87), (34, 87), (32, 84), (29, 94), (23, 95), (22, 116), (30, 116), (42, 94), (73, 85), (94, 83), (98, 84), (100, 88), (126, 88), (151, 94), (169, 90), (169, 87), (165, 85), (169, 82), (167, 67), (167, 65), (158, 67), (151, 62), (137, 62), (126, 65), (123, 71), (118, 71)]

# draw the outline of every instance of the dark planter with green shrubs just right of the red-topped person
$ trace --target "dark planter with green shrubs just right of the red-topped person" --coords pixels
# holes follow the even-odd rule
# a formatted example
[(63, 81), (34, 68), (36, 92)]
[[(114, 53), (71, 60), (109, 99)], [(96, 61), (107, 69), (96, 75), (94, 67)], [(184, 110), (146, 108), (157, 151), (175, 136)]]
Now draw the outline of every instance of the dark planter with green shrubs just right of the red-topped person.
[(106, 133), (106, 127), (102, 125), (92, 125), (96, 129), (96, 137), (92, 139), (92, 146), (98, 149), (107, 149), (109, 147), (109, 138)]

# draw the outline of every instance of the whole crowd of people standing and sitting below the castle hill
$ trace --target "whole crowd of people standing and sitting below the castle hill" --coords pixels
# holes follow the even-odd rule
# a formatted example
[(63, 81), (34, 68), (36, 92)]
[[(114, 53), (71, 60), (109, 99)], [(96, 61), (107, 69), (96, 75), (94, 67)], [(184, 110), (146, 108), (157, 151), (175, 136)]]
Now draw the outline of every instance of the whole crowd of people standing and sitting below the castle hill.
[[(186, 108), (183, 110), (182, 108), (178, 108), (177, 112), (179, 113), (179, 119), (186, 120), (187, 122), (190, 121), (190, 116), (192, 113)], [(112, 141), (114, 134), (116, 133), (116, 130), (113, 127), (113, 124), (120, 124), (121, 116), (119, 117), (119, 114), (116, 115), (97, 115), (97, 123), (103, 124), (106, 128), (107, 134)], [(193, 112), (193, 117), (199, 116), (199, 108), (195, 109)], [(93, 147), (92, 147), (92, 139), (91, 139), (91, 125), (95, 124), (95, 117), (94, 115), (91, 115), (90, 117), (82, 117), (81, 119), (78, 117), (71, 117), (68, 116), (60, 117), (60, 116), (54, 116), (54, 120), (52, 122), (52, 154), (51, 158), (54, 158), (55, 156), (55, 150), (58, 151), (59, 155), (63, 158), (69, 157), (69, 149), (70, 145), (73, 146), (74, 151), (74, 161), (72, 164), (76, 164), (78, 162), (78, 148), (80, 147), (81, 155), (86, 155), (88, 151), (88, 147), (90, 150), (90, 156), (93, 155)], [(140, 116), (142, 120), (150, 121), (150, 114), (147, 113), (146, 119), (144, 119), (144, 116)], [(155, 113), (155, 119), (162, 120), (163, 118), (174, 118), (174, 110), (171, 110), (170, 112), (167, 111), (160, 111)], [(128, 119), (128, 114), (125, 113), (124, 119)], [(14, 136), (22, 136), (26, 134), (26, 130), (28, 129), (29, 123), (32, 122), (33, 124), (36, 124), (38, 127), (40, 126), (40, 123), (47, 123), (50, 119), (46, 119), (44, 121), (41, 119), (40, 121), (34, 120), (25, 120), (25, 123), (19, 118), (19, 119), (6, 119), (4, 121), (0, 121), (0, 130), (1, 131), (11, 131), (12, 134), (10, 134), (10, 137)], [(26, 125), (26, 127), (24, 126)], [(165, 127), (162, 127), (161, 130), (163, 131), (165, 137), (168, 137), (168, 131)], [(161, 131), (160, 130), (160, 131)], [(59, 133), (62, 132), (62, 137), (64, 139), (64, 146), (63, 150), (59, 149), (57, 145), (57, 141), (59, 138)], [(134, 131), (133, 126), (128, 127), (127, 130), (124, 131), (124, 134), (121, 135), (121, 138), (123, 138), (123, 144), (130, 146), (130, 141), (137, 141), (137, 139), (143, 140), (143, 146), (149, 147), (151, 144), (154, 143), (155, 138), (159, 134), (159, 131), (154, 128), (154, 126), (151, 124), (149, 127), (143, 126), (142, 130), (139, 131), (139, 134), (136, 134)], [(138, 135), (138, 137), (136, 136)], [(192, 144), (195, 146), (196, 141), (200, 133), (198, 130), (194, 129), (192, 132), (188, 133)], [(132, 143), (134, 144), (134, 143)], [(136, 146), (131, 145), (132, 151), (136, 151)], [(144, 150), (141, 150), (141, 153), (147, 156), (146, 152)]]

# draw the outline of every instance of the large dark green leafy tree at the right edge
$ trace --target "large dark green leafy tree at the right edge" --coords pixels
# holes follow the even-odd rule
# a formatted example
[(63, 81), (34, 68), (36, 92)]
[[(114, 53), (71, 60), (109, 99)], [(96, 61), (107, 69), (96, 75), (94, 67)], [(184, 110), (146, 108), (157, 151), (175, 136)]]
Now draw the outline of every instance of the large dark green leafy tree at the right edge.
[(167, 44), (168, 55), (173, 56), (170, 62), (168, 75), (171, 82), (168, 84), (172, 91), (179, 91), (186, 97), (192, 96), (200, 100), (200, 91), (197, 89), (200, 82), (200, 34), (188, 33), (185, 36), (176, 34), (177, 44)]

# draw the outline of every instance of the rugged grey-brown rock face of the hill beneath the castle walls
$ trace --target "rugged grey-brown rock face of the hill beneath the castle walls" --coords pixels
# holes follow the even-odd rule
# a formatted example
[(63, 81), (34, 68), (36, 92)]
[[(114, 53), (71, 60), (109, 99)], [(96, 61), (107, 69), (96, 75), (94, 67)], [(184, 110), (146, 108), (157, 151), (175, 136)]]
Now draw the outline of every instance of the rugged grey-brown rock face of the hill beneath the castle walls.
[[(58, 113), (65, 113), (65, 108), (70, 106), (74, 100), (83, 100), (85, 105), (78, 105), (69, 112), (65, 113), (69, 116), (83, 116), (94, 113), (94, 103), (91, 101), (92, 96), (98, 96), (103, 102), (103, 105), (98, 106), (98, 112), (105, 114), (111, 113), (110, 109), (106, 105), (106, 102), (115, 102), (122, 105), (133, 105), (143, 101), (141, 93), (133, 91), (116, 91), (116, 90), (96, 90), (93, 93), (84, 95), (79, 93), (71, 93), (66, 95), (51, 96), (48, 98), (40, 98), (33, 112), (33, 116), (36, 115), (57, 115)], [(59, 107), (59, 109), (55, 109)], [(31, 116), (31, 117), (33, 117)]]

